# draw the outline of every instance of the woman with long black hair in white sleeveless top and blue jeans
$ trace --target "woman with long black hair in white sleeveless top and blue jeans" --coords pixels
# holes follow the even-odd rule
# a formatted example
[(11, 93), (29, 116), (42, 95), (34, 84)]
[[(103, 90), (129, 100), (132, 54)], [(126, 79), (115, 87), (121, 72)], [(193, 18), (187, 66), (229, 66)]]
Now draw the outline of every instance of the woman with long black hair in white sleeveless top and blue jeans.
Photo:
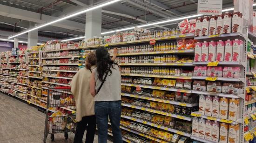
[(99, 143), (107, 143), (108, 117), (114, 143), (122, 143), (121, 120), (121, 73), (119, 66), (104, 47), (96, 50), (97, 67), (90, 80), (90, 92), (95, 101), (95, 116), (98, 126)]

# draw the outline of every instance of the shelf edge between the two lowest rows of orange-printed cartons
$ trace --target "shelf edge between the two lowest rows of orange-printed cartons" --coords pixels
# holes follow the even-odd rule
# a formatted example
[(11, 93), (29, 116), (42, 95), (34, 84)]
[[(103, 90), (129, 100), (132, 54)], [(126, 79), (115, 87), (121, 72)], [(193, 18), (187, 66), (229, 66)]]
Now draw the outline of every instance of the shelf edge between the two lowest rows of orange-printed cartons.
[(202, 115), (202, 114), (198, 113), (198, 111), (192, 112), (191, 116), (202, 117), (204, 119), (209, 119), (209, 120), (223, 122), (223, 123), (232, 123), (232, 124), (243, 123), (243, 119), (238, 119), (236, 121), (232, 121), (232, 120), (227, 120), (227, 119), (221, 119), (221, 118), (216, 118), (216, 117)]

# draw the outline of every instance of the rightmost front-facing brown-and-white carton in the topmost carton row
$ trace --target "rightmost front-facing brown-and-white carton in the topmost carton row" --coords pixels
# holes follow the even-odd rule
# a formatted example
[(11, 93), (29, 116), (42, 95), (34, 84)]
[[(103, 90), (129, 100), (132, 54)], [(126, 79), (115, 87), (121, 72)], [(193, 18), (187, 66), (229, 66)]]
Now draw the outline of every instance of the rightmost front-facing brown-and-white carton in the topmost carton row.
[(243, 19), (242, 13), (234, 11), (232, 15), (232, 33), (243, 32)]

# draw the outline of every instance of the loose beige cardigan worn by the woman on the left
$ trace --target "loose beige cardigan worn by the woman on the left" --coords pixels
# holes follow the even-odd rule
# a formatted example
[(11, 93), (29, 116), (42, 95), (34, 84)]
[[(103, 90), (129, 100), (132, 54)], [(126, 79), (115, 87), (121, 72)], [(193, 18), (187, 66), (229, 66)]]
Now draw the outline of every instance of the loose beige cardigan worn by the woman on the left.
[[(95, 66), (91, 67), (93, 70)], [(91, 71), (81, 68), (72, 78), (71, 92), (76, 104), (76, 121), (80, 122), (82, 117), (95, 115), (94, 97), (90, 93)]]

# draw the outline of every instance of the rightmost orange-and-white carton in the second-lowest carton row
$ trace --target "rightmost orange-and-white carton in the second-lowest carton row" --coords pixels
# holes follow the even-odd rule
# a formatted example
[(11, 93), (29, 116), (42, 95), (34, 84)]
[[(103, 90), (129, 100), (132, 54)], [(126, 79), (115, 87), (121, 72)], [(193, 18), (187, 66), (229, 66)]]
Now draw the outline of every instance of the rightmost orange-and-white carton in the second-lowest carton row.
[(229, 99), (229, 120), (236, 121), (239, 115), (239, 99)]

